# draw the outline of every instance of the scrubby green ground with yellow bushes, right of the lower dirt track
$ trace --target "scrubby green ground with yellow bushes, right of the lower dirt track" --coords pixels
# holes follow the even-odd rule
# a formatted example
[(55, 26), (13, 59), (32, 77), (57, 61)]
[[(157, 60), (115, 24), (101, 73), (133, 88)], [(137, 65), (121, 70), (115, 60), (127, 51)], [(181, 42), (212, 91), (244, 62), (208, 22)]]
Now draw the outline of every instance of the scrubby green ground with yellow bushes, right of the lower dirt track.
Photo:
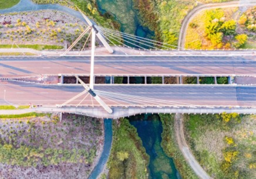
[(212, 178), (256, 176), (256, 116), (185, 115), (186, 140)]

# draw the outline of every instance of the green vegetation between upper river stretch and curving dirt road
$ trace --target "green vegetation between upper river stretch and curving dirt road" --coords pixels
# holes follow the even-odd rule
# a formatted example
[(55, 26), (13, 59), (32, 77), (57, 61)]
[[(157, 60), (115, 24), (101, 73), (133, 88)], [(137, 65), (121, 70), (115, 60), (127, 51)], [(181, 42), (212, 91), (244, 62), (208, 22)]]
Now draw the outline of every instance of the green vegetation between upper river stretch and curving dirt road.
[(133, 0), (134, 7), (139, 10), (142, 25), (154, 31), (157, 40), (171, 45), (177, 45), (181, 23), (186, 14), (192, 10), (197, 3), (224, 1), (225, 0)]

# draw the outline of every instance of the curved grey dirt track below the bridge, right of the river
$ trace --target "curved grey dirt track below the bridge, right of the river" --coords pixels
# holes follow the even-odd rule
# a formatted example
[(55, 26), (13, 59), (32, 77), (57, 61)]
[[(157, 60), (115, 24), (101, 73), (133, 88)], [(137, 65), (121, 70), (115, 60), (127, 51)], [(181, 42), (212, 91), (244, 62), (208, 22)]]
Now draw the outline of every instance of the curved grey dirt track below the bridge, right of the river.
[(185, 157), (190, 167), (194, 170), (196, 175), (199, 178), (210, 179), (211, 177), (207, 175), (204, 169), (199, 165), (199, 163), (196, 161), (196, 159), (194, 158), (193, 154), (191, 153), (191, 151), (189, 150), (186, 144), (184, 132), (183, 132), (183, 115), (181, 114), (175, 115), (175, 134), (176, 134), (176, 139), (177, 139), (179, 148), (183, 156)]

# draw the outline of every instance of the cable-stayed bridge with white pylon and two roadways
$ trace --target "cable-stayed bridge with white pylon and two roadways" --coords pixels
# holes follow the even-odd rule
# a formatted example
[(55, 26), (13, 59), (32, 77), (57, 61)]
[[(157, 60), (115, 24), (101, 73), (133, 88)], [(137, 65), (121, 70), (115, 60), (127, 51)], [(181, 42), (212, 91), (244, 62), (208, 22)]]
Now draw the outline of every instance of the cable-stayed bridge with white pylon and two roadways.
[[(255, 77), (254, 50), (194, 51), (178, 47), (177, 51), (172, 45), (99, 27), (84, 18), (88, 28), (71, 47), (59, 52), (60, 55), (0, 58), (0, 105), (32, 103), (43, 107), (28, 111), (72, 112), (109, 118), (157, 112), (256, 113), (255, 85), (236, 85), (232, 81), (228, 85), (113, 84), (113, 81), (112, 84), (95, 84), (95, 76), (139, 76), (145, 81), (148, 76), (163, 79), (195, 76), (197, 81), (199, 77), (212, 76), (215, 83), (217, 76)], [(91, 49), (72, 54), (72, 47), (86, 33), (91, 35)], [(104, 48), (96, 48), (96, 41)], [(111, 43), (114, 47), (109, 45)], [(57, 75), (61, 81), (39, 84), (19, 80), (41, 75)], [(63, 84), (64, 76), (75, 77), (77, 84)], [(90, 77), (89, 86), (81, 80), (83, 76)]]

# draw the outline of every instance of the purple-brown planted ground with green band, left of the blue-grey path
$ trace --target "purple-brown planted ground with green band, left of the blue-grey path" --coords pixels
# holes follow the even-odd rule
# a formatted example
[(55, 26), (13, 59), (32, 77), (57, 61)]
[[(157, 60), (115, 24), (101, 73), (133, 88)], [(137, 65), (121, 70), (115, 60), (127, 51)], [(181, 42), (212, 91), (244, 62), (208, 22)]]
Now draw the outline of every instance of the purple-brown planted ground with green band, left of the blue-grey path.
[(58, 115), (30, 114), (0, 121), (1, 176), (88, 177), (102, 148), (102, 120), (63, 114), (60, 123)]

